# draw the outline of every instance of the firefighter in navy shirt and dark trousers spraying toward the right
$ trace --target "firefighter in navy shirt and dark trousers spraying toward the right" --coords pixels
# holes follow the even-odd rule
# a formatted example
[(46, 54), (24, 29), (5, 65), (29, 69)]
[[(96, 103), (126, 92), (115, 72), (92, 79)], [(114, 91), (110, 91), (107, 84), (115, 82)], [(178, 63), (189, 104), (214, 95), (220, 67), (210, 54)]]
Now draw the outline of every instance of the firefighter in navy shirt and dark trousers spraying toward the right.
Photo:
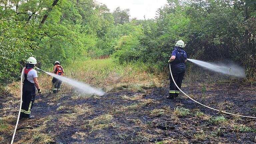
[[(186, 61), (187, 61), (187, 54), (183, 50), (185, 47), (185, 44), (182, 40), (177, 41), (174, 50), (172, 51), (172, 56), (170, 60), (168, 61), (171, 63), (171, 71), (173, 78), (178, 85), (179, 88), (181, 88), (181, 83), (186, 71)], [(180, 91), (178, 88), (175, 86), (171, 74), (169, 76), (170, 79), (170, 91), (169, 91), (169, 96), (167, 96), (167, 99), (173, 99), (174, 97), (178, 97)]]

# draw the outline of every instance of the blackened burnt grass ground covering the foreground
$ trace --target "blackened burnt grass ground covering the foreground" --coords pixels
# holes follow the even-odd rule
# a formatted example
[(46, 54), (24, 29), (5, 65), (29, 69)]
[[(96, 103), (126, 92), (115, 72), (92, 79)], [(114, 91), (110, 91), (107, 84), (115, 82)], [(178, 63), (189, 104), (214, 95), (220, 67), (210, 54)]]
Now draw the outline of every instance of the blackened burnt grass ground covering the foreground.
[[(223, 111), (255, 116), (252, 107), (256, 102), (256, 89), (237, 86), (235, 84), (219, 84), (207, 86), (205, 89), (200, 83), (183, 87), (183, 91), (194, 99), (210, 107)], [(139, 92), (122, 90), (106, 93), (104, 96), (84, 96), (73, 99), (75, 92), (43, 94), (37, 96), (32, 120), (20, 120), (18, 128), (42, 126), (43, 118), (51, 117), (45, 124), (43, 133), (52, 136), (52, 144), (71, 143), (108, 143), (108, 144), (140, 144), (140, 143), (256, 143), (256, 120), (238, 118), (231, 115), (217, 113), (200, 106), (183, 94), (174, 100), (166, 99), (167, 87), (144, 89)], [(122, 97), (125, 96), (125, 97)], [(134, 99), (133, 99), (134, 98)], [(11, 99), (1, 97), (2, 103)], [(17, 117), (16, 110), (19, 103), (11, 107), (15, 109), (12, 115)], [(59, 107), (63, 106), (62, 109)], [(91, 108), (86, 113), (74, 111), (76, 106)], [(2, 109), (6, 107), (1, 105)], [(189, 109), (189, 114), (179, 116), (174, 108)], [(59, 108), (59, 109), (58, 109)], [(152, 112), (154, 110), (155, 113)], [(203, 116), (196, 116), (202, 112)], [(61, 121), (63, 115), (73, 114), (69, 124)], [(10, 115), (3, 113), (3, 117)], [(93, 130), (85, 127), (90, 122), (97, 123), (95, 118), (111, 115), (107, 122), (98, 122), (103, 128)], [(210, 119), (223, 116), (223, 123), (211, 123)], [(88, 121), (89, 120), (89, 121)], [(15, 120), (10, 122), (14, 128)], [(94, 125), (95, 126), (95, 125)], [(248, 129), (243, 129), (247, 127)], [(34, 128), (31, 128), (34, 129)], [(29, 133), (30, 129), (17, 130), (15, 142), (18, 142)], [(2, 143), (10, 143), (12, 130), (8, 133), (0, 132), (5, 138)], [(84, 134), (84, 136), (83, 136)], [(40, 140), (35, 143), (43, 143)]]

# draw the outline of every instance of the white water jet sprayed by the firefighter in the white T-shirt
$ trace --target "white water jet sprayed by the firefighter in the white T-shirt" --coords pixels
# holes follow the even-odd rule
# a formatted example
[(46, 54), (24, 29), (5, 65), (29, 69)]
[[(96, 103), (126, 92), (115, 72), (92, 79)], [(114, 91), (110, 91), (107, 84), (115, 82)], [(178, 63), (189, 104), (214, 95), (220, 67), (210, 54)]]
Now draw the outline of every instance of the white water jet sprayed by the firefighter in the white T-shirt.
[(67, 83), (70, 86), (73, 86), (74, 88), (77, 88), (82, 93), (85, 93), (88, 95), (94, 95), (94, 94), (99, 95), (99, 96), (104, 95), (104, 92), (101, 89), (93, 88), (87, 84), (84, 84), (82, 82), (79, 82), (79, 81), (76, 81), (76, 80), (73, 80), (70, 78), (66, 78), (64, 76), (59, 76), (59, 75), (49, 73), (49, 72), (45, 72), (45, 73), (61, 80), (62, 82)]

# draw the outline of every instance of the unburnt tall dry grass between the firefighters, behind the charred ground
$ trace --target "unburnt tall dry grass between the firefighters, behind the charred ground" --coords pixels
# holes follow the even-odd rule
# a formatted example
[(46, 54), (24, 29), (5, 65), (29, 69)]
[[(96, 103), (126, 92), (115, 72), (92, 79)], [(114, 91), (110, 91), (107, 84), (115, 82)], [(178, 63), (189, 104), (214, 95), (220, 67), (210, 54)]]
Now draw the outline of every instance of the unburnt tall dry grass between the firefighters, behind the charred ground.
[[(94, 87), (103, 88), (105, 91), (115, 91), (120, 86), (127, 86), (128, 90), (143, 90), (143, 88), (160, 87), (161, 81), (165, 79), (164, 72), (155, 74), (149, 73), (148, 66), (143, 63), (130, 63), (128, 65), (119, 65), (114, 58), (86, 60), (65, 66), (66, 77), (76, 79)], [(49, 71), (49, 70), (46, 70)], [(52, 77), (40, 73), (38, 81), (43, 94), (52, 92)], [(12, 94), (19, 97), (20, 83), (13, 82), (8, 85)], [(119, 87), (119, 88), (118, 88)], [(65, 83), (62, 84), (62, 93), (72, 91), (73, 88)], [(57, 100), (57, 99), (56, 99)]]

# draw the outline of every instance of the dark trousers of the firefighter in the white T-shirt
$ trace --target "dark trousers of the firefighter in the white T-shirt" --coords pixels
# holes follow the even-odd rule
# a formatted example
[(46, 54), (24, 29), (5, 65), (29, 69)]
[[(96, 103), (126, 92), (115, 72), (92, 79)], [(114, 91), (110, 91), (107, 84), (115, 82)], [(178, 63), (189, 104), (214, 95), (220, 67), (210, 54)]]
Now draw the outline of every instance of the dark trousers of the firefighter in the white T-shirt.
[(24, 80), (22, 88), (21, 117), (28, 118), (36, 97), (36, 86), (34, 83)]

